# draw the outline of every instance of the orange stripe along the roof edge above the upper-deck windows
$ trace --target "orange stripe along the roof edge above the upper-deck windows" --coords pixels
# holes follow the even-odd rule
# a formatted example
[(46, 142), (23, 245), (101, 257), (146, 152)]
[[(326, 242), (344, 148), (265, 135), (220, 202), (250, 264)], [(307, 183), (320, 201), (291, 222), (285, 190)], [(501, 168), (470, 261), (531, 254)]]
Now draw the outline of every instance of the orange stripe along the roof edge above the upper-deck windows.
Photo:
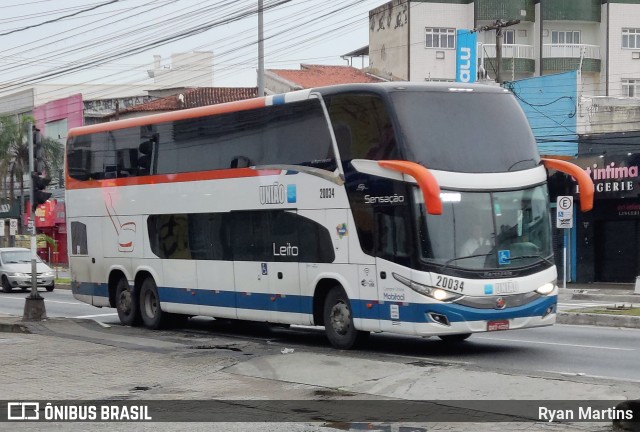
[(246, 111), (250, 109), (263, 108), (266, 104), (266, 99), (255, 98), (255, 99), (245, 99), (237, 102), (228, 102), (218, 105), (209, 105), (198, 108), (189, 108), (179, 111), (171, 111), (161, 114), (152, 114), (143, 117), (135, 117), (125, 120), (116, 120), (112, 122), (106, 123), (98, 123), (91, 126), (81, 126), (77, 128), (73, 128), (69, 130), (67, 134), (68, 138), (79, 136), (79, 135), (88, 135), (92, 133), (99, 132), (108, 132), (112, 130), (124, 129), (128, 127), (136, 127), (136, 126), (145, 126), (145, 125), (153, 125), (163, 122), (170, 122), (176, 120), (186, 120), (191, 118), (216, 115), (216, 114), (226, 114), (230, 112), (236, 111)]

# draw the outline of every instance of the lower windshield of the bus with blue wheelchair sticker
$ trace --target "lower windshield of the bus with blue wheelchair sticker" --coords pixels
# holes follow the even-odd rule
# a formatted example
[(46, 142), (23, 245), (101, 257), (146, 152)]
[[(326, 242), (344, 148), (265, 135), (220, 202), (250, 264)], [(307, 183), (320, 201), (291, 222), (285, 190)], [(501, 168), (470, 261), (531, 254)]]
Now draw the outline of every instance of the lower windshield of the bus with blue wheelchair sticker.
[(442, 215), (415, 202), (420, 256), (447, 267), (487, 270), (550, 263), (551, 220), (546, 185), (504, 192), (443, 191)]

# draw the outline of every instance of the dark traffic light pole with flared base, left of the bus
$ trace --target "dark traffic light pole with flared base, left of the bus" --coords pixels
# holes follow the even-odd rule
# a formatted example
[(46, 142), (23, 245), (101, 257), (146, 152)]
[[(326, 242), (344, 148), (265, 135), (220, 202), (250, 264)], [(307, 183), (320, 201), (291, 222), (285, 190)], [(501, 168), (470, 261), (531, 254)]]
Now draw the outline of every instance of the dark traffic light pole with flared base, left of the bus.
[(29, 215), (29, 235), (31, 236), (31, 293), (24, 303), (23, 321), (42, 321), (47, 318), (47, 312), (44, 307), (44, 298), (38, 294), (38, 275), (36, 257), (36, 218), (35, 218), (35, 188), (34, 175), (36, 171), (34, 163), (34, 133), (37, 133), (31, 122), (27, 122), (27, 145), (29, 146), (29, 172), (31, 173), (30, 205), (31, 213)]

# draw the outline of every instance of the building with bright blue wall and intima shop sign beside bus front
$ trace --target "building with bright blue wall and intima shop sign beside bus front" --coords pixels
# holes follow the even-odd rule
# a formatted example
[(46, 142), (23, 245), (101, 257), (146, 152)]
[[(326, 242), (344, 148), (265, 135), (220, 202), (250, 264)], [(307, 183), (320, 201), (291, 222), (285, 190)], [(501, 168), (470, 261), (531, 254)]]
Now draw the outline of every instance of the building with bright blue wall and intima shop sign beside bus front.
[[(640, 275), (640, 98), (581, 96), (577, 71), (505, 84), (520, 101), (540, 153), (582, 167), (595, 185), (594, 208), (574, 210), (571, 229), (554, 229), (562, 277), (630, 283)], [(580, 201), (575, 183), (551, 173), (552, 209), (558, 196)]]

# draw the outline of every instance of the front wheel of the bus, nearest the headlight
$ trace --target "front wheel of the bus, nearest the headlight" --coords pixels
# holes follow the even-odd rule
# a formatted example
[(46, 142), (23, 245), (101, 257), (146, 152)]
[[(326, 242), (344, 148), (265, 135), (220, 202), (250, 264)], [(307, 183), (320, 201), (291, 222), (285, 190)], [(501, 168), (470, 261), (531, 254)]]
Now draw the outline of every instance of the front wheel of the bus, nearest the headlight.
[(351, 349), (365, 341), (368, 332), (356, 330), (349, 297), (341, 287), (333, 287), (324, 302), (324, 331), (335, 348)]

